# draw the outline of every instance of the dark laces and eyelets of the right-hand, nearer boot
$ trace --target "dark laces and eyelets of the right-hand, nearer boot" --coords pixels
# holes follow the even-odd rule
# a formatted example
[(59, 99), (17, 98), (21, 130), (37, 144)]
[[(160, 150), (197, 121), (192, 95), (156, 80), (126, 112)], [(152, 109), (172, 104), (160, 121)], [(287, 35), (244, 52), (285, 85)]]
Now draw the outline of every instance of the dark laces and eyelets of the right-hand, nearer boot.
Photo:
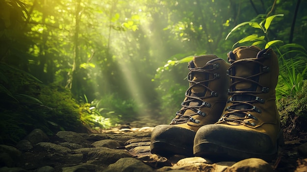
[[(231, 80), (235, 79), (235, 82), (230, 82), (230, 89), (228, 90), (228, 94), (231, 95), (231, 97), (228, 99), (227, 103), (231, 102), (232, 104), (226, 107), (226, 111), (228, 111), (228, 113), (224, 114), (219, 119), (218, 123), (232, 122), (256, 126), (255, 123), (247, 121), (247, 119), (254, 119), (257, 121), (257, 118), (253, 116), (250, 112), (255, 111), (256, 113), (261, 113), (261, 109), (258, 109), (254, 105), (254, 103), (259, 102), (263, 104), (265, 102), (265, 99), (258, 97), (257, 94), (269, 92), (268, 87), (264, 87), (257, 82), (261, 74), (270, 71), (269, 67), (264, 66), (261, 62), (259, 62), (260, 60), (267, 58), (270, 55), (265, 53), (266, 50), (267, 49), (260, 51), (255, 58), (248, 58), (244, 61), (235, 61), (229, 58), (229, 62), (231, 64), (229, 70), (227, 71), (227, 75), (230, 76)], [(256, 66), (259, 66), (259, 71), (247, 77), (230, 75), (230, 71), (233, 70), (233, 68), (235, 68), (236, 66), (246, 65), (246, 63), (255, 64)], [(235, 88), (235, 85), (240, 82), (250, 82), (255, 89), (231, 90), (231, 88)], [(258, 87), (262, 88), (261, 91), (256, 91), (256, 88)]]

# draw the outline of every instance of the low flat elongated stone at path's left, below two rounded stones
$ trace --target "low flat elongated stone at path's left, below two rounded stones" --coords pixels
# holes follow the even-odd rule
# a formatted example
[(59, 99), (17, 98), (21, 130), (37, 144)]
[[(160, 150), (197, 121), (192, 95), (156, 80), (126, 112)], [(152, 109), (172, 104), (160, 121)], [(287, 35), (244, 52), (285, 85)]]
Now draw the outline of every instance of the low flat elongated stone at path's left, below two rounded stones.
[(49, 142), (41, 142), (34, 146), (35, 151), (47, 151), (47, 152), (56, 152), (56, 153), (68, 153), (71, 152), (70, 148), (62, 147)]

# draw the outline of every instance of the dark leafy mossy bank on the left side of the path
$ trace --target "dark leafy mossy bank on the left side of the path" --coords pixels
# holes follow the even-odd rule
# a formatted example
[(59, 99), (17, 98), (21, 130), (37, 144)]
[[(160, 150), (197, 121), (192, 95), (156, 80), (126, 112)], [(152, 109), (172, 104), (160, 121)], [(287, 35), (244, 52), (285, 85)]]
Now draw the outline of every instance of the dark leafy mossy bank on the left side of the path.
[(60, 130), (84, 132), (78, 102), (69, 90), (43, 85), (32, 75), (10, 67), (1, 68), (1, 74), (6, 79), (1, 84), (7, 89), (0, 92), (1, 144), (15, 144), (35, 128), (48, 134)]

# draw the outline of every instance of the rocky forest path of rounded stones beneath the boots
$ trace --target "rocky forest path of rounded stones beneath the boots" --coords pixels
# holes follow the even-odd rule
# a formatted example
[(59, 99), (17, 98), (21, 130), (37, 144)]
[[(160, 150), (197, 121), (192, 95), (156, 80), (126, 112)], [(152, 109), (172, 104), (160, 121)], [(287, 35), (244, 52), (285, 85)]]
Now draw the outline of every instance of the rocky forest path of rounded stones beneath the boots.
[(287, 142), (273, 162), (251, 158), (211, 163), (201, 157), (150, 152), (153, 127), (102, 133), (35, 129), (16, 146), (0, 145), (0, 172), (307, 172), (307, 141)]

